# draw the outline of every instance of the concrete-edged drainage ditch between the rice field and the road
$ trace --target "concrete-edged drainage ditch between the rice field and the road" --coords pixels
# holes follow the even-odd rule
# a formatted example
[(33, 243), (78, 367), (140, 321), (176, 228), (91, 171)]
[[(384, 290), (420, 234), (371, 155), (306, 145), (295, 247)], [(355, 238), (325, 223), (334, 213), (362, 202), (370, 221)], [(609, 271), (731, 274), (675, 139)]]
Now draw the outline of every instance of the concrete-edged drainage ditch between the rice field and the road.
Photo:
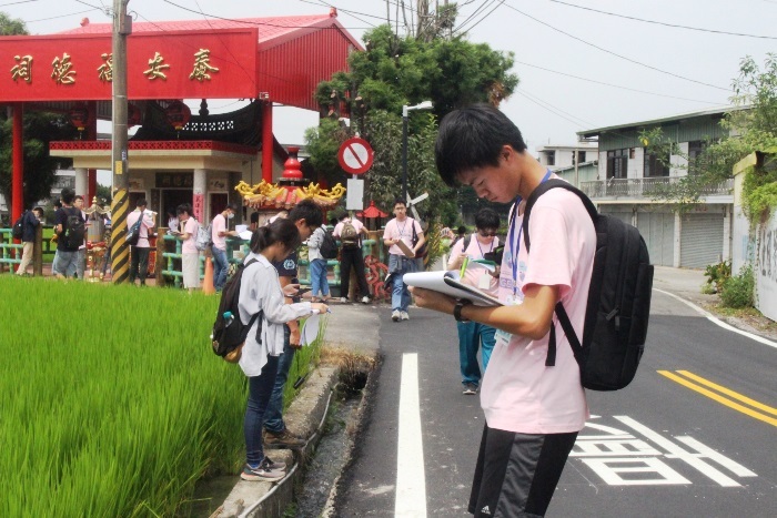
[[(367, 410), (377, 358), (342, 349), (322, 351), (321, 364), (305, 380), (286, 410), (286, 426), (310, 437), (301, 451), (271, 450), (290, 468), (278, 484), (246, 483), (219, 477), (203, 485), (188, 516), (297, 517), (335, 516), (334, 502), (342, 471), (352, 459), (353, 445)], [(229, 489), (223, 504), (213, 510)]]

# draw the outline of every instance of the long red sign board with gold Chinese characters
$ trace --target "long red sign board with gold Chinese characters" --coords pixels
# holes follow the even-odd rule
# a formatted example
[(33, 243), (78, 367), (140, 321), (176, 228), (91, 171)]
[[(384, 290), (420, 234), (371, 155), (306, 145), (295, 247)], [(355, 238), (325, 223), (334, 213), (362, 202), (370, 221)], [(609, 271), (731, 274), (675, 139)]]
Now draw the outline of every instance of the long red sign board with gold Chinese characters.
[[(130, 99), (255, 99), (255, 29), (137, 34), (127, 54)], [(0, 38), (0, 104), (111, 99), (110, 33)]]

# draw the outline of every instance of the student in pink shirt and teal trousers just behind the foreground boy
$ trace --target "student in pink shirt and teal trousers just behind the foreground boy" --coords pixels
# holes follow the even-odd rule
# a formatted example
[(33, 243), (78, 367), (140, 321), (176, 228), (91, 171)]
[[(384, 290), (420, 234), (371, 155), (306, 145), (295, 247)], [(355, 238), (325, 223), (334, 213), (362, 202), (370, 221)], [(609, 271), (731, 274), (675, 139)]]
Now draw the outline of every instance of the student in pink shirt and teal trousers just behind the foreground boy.
[[(500, 227), (500, 215), (492, 209), (484, 207), (475, 215), (477, 231), (468, 237), (463, 237), (451, 248), (451, 258), (447, 262), (448, 270), (460, 270), (464, 258), (483, 260), (483, 255), (493, 252), (500, 246), (496, 230)], [(466, 247), (465, 247), (466, 245)], [(470, 262), (462, 282), (483, 290), (488, 295), (498, 296), (498, 272), (483, 267), (478, 263)], [(477, 348), (481, 348), (483, 372), (488, 366), (488, 358), (494, 348), (494, 329), (490, 325), (478, 322), (456, 322), (458, 329), (458, 362), (462, 372), (462, 385), (465, 395), (475, 395), (481, 385), (481, 368), (477, 365)]]

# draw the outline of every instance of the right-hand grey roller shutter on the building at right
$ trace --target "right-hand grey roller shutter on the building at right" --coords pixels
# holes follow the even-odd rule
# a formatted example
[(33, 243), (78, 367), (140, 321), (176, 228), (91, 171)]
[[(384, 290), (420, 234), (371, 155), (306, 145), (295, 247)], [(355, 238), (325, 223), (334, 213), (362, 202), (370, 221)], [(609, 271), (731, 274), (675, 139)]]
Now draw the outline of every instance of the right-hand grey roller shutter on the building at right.
[(680, 235), (680, 266), (704, 268), (723, 256), (723, 214), (686, 214)]

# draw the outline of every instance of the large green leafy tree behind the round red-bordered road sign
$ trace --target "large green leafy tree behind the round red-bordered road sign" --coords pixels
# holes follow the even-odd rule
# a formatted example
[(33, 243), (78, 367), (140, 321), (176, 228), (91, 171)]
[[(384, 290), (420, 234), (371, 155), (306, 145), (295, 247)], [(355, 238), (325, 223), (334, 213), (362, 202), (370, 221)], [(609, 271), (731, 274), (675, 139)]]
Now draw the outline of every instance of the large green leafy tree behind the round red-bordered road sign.
[[(448, 18), (455, 16), (455, 9), (447, 12)], [(377, 27), (364, 35), (366, 50), (349, 58), (349, 72), (337, 72), (319, 84), (322, 115), (332, 120), (322, 120), (305, 134), (316, 174), (329, 183), (344, 183), (336, 150), (359, 133), (375, 151), (365, 174), (365, 193), (383, 209), (390, 207), (402, 191), (402, 106), (431, 100), (432, 112), (415, 112), (408, 119), (408, 193), (430, 193), (417, 207), (424, 221), (457, 220), (455, 191), (443, 184), (434, 164), (437, 122), (463, 105), (497, 105), (513, 93), (518, 79), (509, 73), (513, 53), (461, 37), (441, 39), (446, 23), (435, 26), (434, 38), (428, 31), (417, 38), (397, 37), (391, 27)], [(351, 125), (344, 126), (337, 116), (347, 114)]]

